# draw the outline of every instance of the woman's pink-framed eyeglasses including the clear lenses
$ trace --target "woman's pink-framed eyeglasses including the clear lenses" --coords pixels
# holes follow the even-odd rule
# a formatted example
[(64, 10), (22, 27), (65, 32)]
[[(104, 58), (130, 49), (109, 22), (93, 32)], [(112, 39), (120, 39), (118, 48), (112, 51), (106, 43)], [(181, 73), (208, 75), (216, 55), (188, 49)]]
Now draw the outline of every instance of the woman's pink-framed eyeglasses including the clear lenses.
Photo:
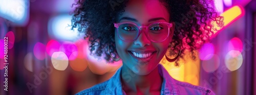
[(134, 41), (145, 29), (147, 39), (153, 42), (162, 42), (169, 36), (170, 28), (173, 27), (172, 23), (167, 22), (154, 22), (148, 26), (138, 26), (133, 22), (114, 23), (117, 28), (118, 37), (123, 41)]

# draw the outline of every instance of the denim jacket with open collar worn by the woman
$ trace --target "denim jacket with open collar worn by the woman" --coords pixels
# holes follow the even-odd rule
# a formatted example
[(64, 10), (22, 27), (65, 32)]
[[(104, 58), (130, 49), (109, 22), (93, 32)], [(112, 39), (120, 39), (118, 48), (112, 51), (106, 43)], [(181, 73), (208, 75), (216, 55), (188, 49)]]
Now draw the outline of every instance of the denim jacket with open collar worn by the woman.
[[(215, 94), (210, 89), (191, 85), (189, 83), (180, 82), (168, 74), (166, 69), (159, 64), (158, 65), (159, 74), (163, 77), (163, 83), (161, 87), (161, 94), (174, 94), (174, 95), (183, 95), (183, 94)], [(122, 90), (122, 84), (121, 84), (121, 67), (117, 70), (116, 74), (110, 78), (108, 81), (105, 81), (103, 83), (96, 84), (92, 86), (91, 88), (84, 89), (78, 93), (79, 94), (125, 94), (125, 92)]]

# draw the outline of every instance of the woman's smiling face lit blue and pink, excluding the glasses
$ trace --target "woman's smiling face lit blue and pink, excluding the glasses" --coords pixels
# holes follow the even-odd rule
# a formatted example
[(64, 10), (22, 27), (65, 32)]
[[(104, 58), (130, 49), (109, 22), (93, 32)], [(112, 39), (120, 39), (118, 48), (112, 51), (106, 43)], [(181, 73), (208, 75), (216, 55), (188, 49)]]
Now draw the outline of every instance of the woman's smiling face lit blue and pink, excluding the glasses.
[[(125, 7), (125, 12), (119, 16), (119, 22), (133, 22), (138, 26), (148, 26), (154, 22), (168, 22), (169, 13), (158, 0), (131, 0)], [(115, 32), (116, 49), (123, 61), (123, 66), (131, 69), (137, 75), (147, 75), (158, 65), (166, 53), (173, 37), (173, 27), (170, 35), (162, 42), (152, 42), (147, 38), (144, 30), (139, 37), (131, 42), (121, 40)], [(139, 58), (136, 54), (146, 55), (146, 58)]]

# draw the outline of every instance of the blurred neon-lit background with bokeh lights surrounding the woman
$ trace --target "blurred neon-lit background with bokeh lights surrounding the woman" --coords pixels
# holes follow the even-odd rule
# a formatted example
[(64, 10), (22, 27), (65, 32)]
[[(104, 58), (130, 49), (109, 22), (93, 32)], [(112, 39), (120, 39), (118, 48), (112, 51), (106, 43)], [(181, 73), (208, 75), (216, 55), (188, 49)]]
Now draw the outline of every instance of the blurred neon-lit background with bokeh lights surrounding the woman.
[[(225, 27), (198, 59), (161, 64), (173, 78), (216, 94), (256, 94), (256, 0), (215, 2)], [(115, 74), (120, 61), (90, 56), (84, 35), (70, 30), (73, 3), (0, 0), (0, 94), (75, 94)]]

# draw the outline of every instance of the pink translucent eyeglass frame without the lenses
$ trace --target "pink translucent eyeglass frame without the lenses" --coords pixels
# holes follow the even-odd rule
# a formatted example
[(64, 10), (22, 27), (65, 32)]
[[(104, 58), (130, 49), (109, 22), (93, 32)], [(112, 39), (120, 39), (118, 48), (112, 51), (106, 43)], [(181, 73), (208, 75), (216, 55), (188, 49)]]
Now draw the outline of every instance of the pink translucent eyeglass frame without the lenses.
[[(134, 40), (131, 40), (131, 41), (135, 41), (135, 40), (138, 39), (139, 35), (142, 33), (142, 32), (141, 32), (141, 29), (142, 29), (142, 28), (146, 28), (146, 34), (147, 34), (146, 37), (147, 37), (147, 39), (150, 39), (150, 37), (149, 37), (149, 35), (148, 35), (148, 27), (150, 27), (151, 25), (154, 25), (155, 23), (165, 23), (165, 24), (168, 26), (168, 35), (167, 35), (167, 37), (166, 37), (165, 39), (163, 39), (162, 41), (154, 41), (154, 40), (150, 39), (152, 42), (163, 42), (164, 40), (166, 40), (166, 39), (169, 37), (170, 28), (173, 27), (173, 23), (167, 23), (167, 22), (154, 22), (154, 23), (151, 23), (151, 24), (148, 25), (148, 26), (138, 26), (136, 23), (133, 23), (133, 22), (114, 23), (115, 28), (117, 28), (117, 31), (116, 31), (116, 32), (117, 32), (117, 35), (118, 35), (119, 38), (120, 38), (120, 36), (119, 36), (119, 33), (118, 33), (118, 28), (119, 28), (119, 26), (122, 25), (123, 23), (131, 23), (131, 24), (135, 25), (135, 26), (139, 29), (138, 35), (136, 36), (136, 38), (135, 38)], [(120, 38), (120, 39), (121, 39), (121, 38)], [(121, 39), (121, 40), (123, 40), (123, 39)], [(127, 41), (127, 40), (123, 40), (123, 41), (131, 42), (131, 41)]]

